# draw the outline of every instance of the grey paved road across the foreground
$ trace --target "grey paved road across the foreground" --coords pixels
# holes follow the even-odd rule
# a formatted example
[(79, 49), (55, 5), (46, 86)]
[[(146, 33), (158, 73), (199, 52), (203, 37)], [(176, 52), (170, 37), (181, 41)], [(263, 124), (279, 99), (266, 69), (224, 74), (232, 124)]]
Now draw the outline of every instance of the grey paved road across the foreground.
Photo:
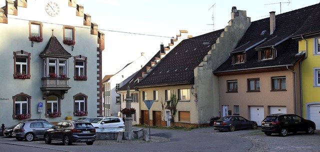
[[(148, 130), (148, 128), (146, 128)], [(277, 134), (264, 135), (256, 130), (237, 130), (234, 132), (218, 132), (213, 127), (202, 127), (191, 131), (177, 131), (151, 128), (152, 136), (170, 138), (167, 142), (85, 145), (75, 143), (65, 146), (61, 144), (43, 144), (39, 142), (17, 141), (14, 138), (0, 136), (0, 151), (319, 151), (320, 131), (308, 135), (298, 133), (282, 137)], [(44, 141), (43, 141), (44, 142)], [(17, 149), (21, 150), (17, 150)]]

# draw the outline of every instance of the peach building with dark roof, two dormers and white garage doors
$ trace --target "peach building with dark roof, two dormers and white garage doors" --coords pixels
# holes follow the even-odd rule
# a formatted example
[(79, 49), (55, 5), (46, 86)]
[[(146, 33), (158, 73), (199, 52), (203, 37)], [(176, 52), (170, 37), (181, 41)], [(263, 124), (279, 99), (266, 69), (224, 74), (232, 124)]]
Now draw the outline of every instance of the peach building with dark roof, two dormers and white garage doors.
[[(219, 76), (221, 116), (240, 114), (261, 125), (272, 113), (301, 115), (301, 60), (296, 31), (318, 4), (253, 21), (228, 59), (213, 70)], [(301, 42), (300, 42), (301, 43)], [(309, 67), (310, 68), (310, 67)]]

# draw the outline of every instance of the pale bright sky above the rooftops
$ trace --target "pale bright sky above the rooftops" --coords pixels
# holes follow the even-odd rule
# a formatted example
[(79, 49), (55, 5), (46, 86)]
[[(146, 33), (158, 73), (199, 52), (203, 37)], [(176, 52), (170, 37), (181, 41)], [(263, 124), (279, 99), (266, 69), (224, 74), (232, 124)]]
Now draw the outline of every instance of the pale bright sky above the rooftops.
[[(59, 1), (59, 0), (57, 0)], [(224, 28), (231, 8), (246, 10), (251, 21), (270, 11), (284, 13), (320, 0), (76, 0), (104, 33), (102, 77), (115, 74), (141, 52), (149, 60), (179, 30), (197, 36)], [(0, 6), (5, 5), (1, 0)], [(213, 16), (213, 20), (212, 20)]]

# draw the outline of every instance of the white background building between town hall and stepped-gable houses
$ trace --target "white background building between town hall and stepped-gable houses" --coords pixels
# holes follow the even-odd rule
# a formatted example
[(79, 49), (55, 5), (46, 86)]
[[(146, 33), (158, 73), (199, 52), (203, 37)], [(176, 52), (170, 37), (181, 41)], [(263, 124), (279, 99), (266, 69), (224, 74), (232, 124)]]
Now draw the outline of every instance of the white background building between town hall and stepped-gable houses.
[(121, 70), (102, 82), (106, 88), (104, 91), (104, 108), (106, 108), (104, 112), (105, 116), (118, 115), (118, 112), (121, 110), (121, 96), (116, 92), (117, 89), (123, 86), (128, 79), (132, 78), (132, 74), (140, 70), (147, 61), (148, 60), (142, 52), (141, 56), (126, 64)]

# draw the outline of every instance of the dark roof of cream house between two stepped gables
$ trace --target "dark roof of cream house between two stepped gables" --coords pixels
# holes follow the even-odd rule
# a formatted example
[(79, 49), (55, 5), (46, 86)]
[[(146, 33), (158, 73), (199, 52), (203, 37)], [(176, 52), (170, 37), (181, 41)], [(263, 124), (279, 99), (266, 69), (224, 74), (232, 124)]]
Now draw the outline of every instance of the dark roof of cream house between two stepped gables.
[[(135, 86), (193, 84), (193, 69), (202, 61), (223, 30), (182, 40)], [(203, 45), (204, 41), (210, 44)]]

